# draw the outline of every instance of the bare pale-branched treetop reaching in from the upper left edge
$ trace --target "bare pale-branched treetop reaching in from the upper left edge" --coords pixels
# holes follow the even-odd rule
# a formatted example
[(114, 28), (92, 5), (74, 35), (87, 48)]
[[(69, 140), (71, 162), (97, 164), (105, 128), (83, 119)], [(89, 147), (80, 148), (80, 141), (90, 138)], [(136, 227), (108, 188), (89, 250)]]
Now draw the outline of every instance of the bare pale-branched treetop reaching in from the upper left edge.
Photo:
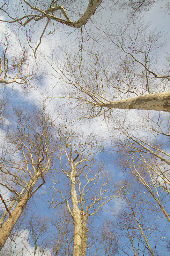
[[(37, 64), (30, 62), (30, 56), (25, 46), (21, 45), (18, 38), (11, 41), (11, 32), (4, 28), (1, 32), (0, 53), (0, 84), (21, 84), (22, 89), (30, 87), (31, 82), (37, 81), (42, 76)], [(13, 37), (17, 35), (14, 34)], [(17, 43), (16, 43), (17, 41)]]

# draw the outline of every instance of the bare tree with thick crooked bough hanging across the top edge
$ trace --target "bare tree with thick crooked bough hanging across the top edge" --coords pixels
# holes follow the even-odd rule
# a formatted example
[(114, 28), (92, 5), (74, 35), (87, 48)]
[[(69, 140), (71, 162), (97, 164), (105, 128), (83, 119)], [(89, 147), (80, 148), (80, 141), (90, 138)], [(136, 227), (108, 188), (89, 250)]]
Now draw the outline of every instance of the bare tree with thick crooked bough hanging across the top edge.
[[(65, 25), (71, 28), (82, 28), (85, 24), (92, 20), (92, 16), (98, 9), (112, 8), (112, 10), (122, 10), (124, 8), (130, 10), (130, 15), (133, 17), (136, 13), (142, 10), (149, 10), (154, 4), (151, 0), (142, 1), (104, 1), (104, 0), (92, 0), (92, 1), (26, 1), (22, 0), (18, 3), (9, 3), (8, 1), (2, 1), (0, 10), (3, 18), (2, 22), (8, 24), (16, 23), (20, 28), (23, 28), (26, 33), (28, 44), (32, 39), (32, 35), (36, 31), (35, 28), (41, 27), (41, 33), (39, 37), (39, 43), (36, 45), (34, 56), (36, 57), (36, 51), (41, 44), (41, 39), (45, 34), (53, 34), (57, 25)], [(101, 6), (101, 8), (100, 8)], [(34, 29), (33, 29), (34, 27)], [(26, 28), (26, 29), (25, 29)], [(31, 29), (30, 29), (31, 28)], [(33, 32), (34, 30), (34, 32)], [(37, 31), (36, 31), (37, 33)]]

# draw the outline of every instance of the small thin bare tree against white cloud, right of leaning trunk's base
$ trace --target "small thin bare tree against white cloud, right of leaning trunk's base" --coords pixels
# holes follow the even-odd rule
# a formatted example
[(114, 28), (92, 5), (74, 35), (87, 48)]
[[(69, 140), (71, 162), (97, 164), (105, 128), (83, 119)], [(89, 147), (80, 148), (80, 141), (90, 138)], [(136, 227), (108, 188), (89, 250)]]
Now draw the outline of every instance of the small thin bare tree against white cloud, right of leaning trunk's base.
[(47, 231), (47, 220), (29, 213), (25, 208), (1, 250), (1, 255), (49, 255), (44, 253), (48, 242)]

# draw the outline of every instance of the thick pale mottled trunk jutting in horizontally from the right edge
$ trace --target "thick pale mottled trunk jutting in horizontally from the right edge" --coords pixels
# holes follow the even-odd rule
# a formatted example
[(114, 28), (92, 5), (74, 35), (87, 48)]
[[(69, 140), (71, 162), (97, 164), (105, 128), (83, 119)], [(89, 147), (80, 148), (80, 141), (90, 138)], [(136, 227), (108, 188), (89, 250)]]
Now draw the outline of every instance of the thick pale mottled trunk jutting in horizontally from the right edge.
[(146, 94), (126, 100), (116, 100), (100, 104), (106, 108), (148, 109), (170, 112), (170, 92)]

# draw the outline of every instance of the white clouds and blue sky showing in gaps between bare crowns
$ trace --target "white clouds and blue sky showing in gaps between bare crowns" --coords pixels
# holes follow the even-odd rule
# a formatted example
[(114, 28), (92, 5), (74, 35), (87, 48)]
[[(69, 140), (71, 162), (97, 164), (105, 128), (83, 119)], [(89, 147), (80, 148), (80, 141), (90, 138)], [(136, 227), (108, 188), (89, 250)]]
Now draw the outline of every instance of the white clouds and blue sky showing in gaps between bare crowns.
[[(114, 24), (117, 22), (127, 22), (126, 18), (126, 10), (123, 10), (122, 12), (115, 12), (114, 9), (107, 9), (104, 10), (102, 9), (100, 12), (96, 13), (96, 16), (92, 18), (94, 21), (94, 25), (92, 23), (87, 23), (87, 30), (92, 33), (94, 31), (94, 38), (98, 38), (99, 40), (97, 43), (94, 43), (94, 46), (100, 47), (100, 49), (105, 46), (103, 52), (109, 51), (109, 43), (104, 41), (104, 36), (102, 36), (102, 33), (100, 30), (103, 28), (110, 28), (114, 27)], [(140, 18), (142, 17), (142, 18)], [(170, 33), (170, 27), (169, 27), (169, 16), (168, 13), (162, 12), (160, 8), (160, 3), (155, 3), (152, 8), (148, 12), (144, 12), (144, 14), (138, 18), (138, 22), (140, 20), (144, 20), (145, 23), (150, 23), (148, 26), (148, 29), (146, 29), (146, 34), (149, 33), (150, 31), (154, 30), (160, 30), (161, 33), (164, 35), (164, 39), (168, 42), (168, 35)], [(3, 19), (3, 15), (1, 15), (1, 19)], [(136, 18), (137, 19), (137, 18)], [(112, 25), (111, 25), (112, 24)], [(10, 45), (11, 47), (9, 48), (9, 55), (15, 54), (15, 52), (20, 52), (20, 44), (18, 43), (18, 36), (15, 35), (14, 28), (11, 28), (8, 26), (8, 24), (4, 24), (3, 22), (0, 23), (1, 25), (1, 31), (0, 31), (0, 38), (1, 42), (4, 39), (4, 33), (7, 30), (8, 34), (10, 36)], [(42, 26), (43, 24), (41, 24)], [(43, 29), (43, 27), (39, 29)], [(77, 33), (80, 34), (78, 31), (73, 31), (72, 28), (65, 28), (65, 32), (61, 32), (62, 28), (59, 28), (57, 32), (55, 32), (52, 35), (46, 35), (41, 42), (41, 45), (39, 49), (37, 50), (37, 58), (35, 59), (33, 56), (33, 51), (31, 48), (28, 48), (28, 60), (27, 60), (27, 69), (31, 70), (32, 66), (37, 63), (39, 67), (39, 72), (45, 72), (48, 73), (44, 78), (41, 78), (41, 81), (38, 79), (34, 79), (33, 84), (31, 89), (23, 93), (22, 87), (18, 84), (13, 85), (7, 85), (7, 88), (4, 92), (4, 94), (8, 95), (9, 102), (10, 102), (10, 108), (12, 109), (13, 107), (16, 106), (23, 106), (23, 107), (28, 107), (29, 103), (34, 103), (35, 105), (38, 105), (39, 107), (42, 108), (44, 100), (46, 100), (46, 109), (47, 111), (50, 111), (50, 114), (55, 118), (55, 116), (58, 115), (58, 111), (61, 112), (61, 116), (65, 118), (65, 116), (68, 115), (68, 118), (70, 113), (72, 113), (72, 119), (69, 121), (72, 121), (76, 119), (77, 110), (74, 109), (70, 111), (70, 108), (67, 107), (67, 102), (65, 99), (54, 99), (54, 100), (49, 100), (44, 95), (48, 95), (48, 97), (53, 97), (56, 93), (62, 88), (63, 84), (58, 82), (57, 78), (55, 77), (54, 70), (50, 66), (50, 60), (52, 60), (52, 56), (55, 59), (60, 59), (63, 56), (62, 49), (67, 49), (68, 52), (70, 52), (72, 49), (73, 52), (75, 53), (78, 51), (78, 46), (79, 42), (77, 40)], [(33, 42), (38, 42), (39, 35), (34, 35), (34, 38), (32, 38)], [(22, 38), (22, 43), (27, 44), (25, 41), (26, 38), (23, 36)], [(92, 40), (87, 41), (86, 44), (89, 44), (88, 46), (92, 45)], [(35, 43), (32, 44), (33, 47), (35, 47)], [(100, 46), (99, 46), (100, 45)], [(28, 46), (28, 44), (27, 44)], [(164, 57), (166, 56), (166, 53), (169, 51), (170, 45), (167, 43), (166, 46), (160, 48), (159, 51), (159, 67), (163, 68), (164, 67)], [(1, 47), (2, 49), (2, 47)], [(49, 61), (47, 61), (49, 60)], [(62, 61), (62, 60), (61, 60)], [(64, 63), (65, 59), (63, 59)], [(57, 83), (57, 87), (55, 84)], [(55, 86), (55, 87), (54, 87)], [(47, 93), (48, 92), (48, 93)], [(72, 112), (73, 111), (73, 112)], [(118, 115), (119, 117), (124, 116), (125, 124), (126, 125), (136, 125), (140, 123), (141, 116), (143, 111), (140, 110), (113, 110), (114, 115)], [(149, 111), (147, 112), (149, 113)], [(152, 114), (152, 113), (151, 113)], [(157, 118), (158, 115), (157, 113), (152, 114), (153, 118)], [(57, 119), (56, 122), (60, 122), (61, 117)], [(7, 120), (6, 122), (11, 122), (11, 120)], [(77, 129), (79, 131), (83, 131), (85, 133), (89, 132), (95, 132), (97, 136), (99, 136), (101, 139), (108, 139), (110, 136), (110, 133), (108, 132), (108, 120), (105, 122), (103, 120), (103, 117), (98, 117), (93, 119), (92, 121), (83, 121), (83, 122), (74, 122), (74, 125), (77, 125)], [(117, 136), (117, 131), (115, 131), (115, 135)], [(137, 131), (138, 136), (144, 136), (144, 131), (142, 129), (138, 129)], [(119, 134), (118, 134), (119, 135)], [(5, 132), (2, 128), (1, 130), (1, 145), (5, 145)], [(152, 141), (152, 137), (150, 137)], [(113, 141), (108, 139), (107, 140), (107, 150), (105, 152), (102, 152), (102, 154), (99, 154), (97, 157), (100, 159), (105, 159), (107, 162), (107, 167), (109, 171), (111, 172), (111, 175), (114, 177), (115, 176), (115, 181), (121, 180), (124, 178), (124, 173), (119, 166), (119, 164), (116, 162), (117, 159), (117, 152), (113, 151), (113, 148), (117, 149), (117, 145), (113, 144)], [(46, 191), (51, 187), (51, 176), (48, 179), (48, 182), (41, 187), (36, 192), (36, 197), (30, 199), (30, 202), (28, 204), (28, 211), (26, 214), (29, 216), (28, 218), (31, 218), (31, 216), (35, 213), (39, 213), (42, 218), (45, 216), (52, 216), (54, 215), (54, 212), (56, 210), (52, 209), (49, 205), (49, 195), (52, 192), (49, 192), (47, 195)], [(10, 198), (10, 192), (6, 191), (4, 188), (0, 187), (1, 194), (4, 196), (5, 200), (8, 200)], [(4, 205), (0, 204), (1, 209), (4, 210)], [(117, 201), (112, 201), (110, 202), (107, 206), (103, 208), (103, 211), (100, 212), (100, 217), (98, 216), (98, 219), (96, 219), (97, 223), (97, 228), (101, 225), (101, 217), (108, 218), (108, 216), (112, 216), (112, 213), (110, 212), (110, 209), (113, 207), (120, 207), (119, 202)], [(113, 216), (112, 216), (113, 218)], [(18, 237), (16, 238), (15, 242), (19, 245), (19, 247), (16, 247), (14, 255), (32, 255), (33, 254), (33, 244), (31, 243), (31, 240), (28, 241), (29, 237), (29, 231), (27, 229), (21, 229), (19, 232)], [(50, 232), (48, 230), (48, 232)], [(8, 241), (10, 243), (10, 241)], [(15, 246), (14, 243), (12, 246)], [(24, 248), (24, 249), (23, 249)], [(46, 252), (46, 255), (48, 255), (48, 251)], [(40, 251), (37, 250), (36, 256), (40, 255)]]

